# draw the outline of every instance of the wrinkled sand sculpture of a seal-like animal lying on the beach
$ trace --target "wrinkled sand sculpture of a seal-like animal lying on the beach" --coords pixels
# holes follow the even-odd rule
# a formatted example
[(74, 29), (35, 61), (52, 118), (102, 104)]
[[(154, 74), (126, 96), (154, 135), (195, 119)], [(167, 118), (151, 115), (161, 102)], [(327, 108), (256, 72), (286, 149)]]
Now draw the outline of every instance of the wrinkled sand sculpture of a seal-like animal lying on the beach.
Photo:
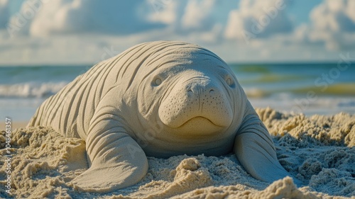
[(131, 186), (147, 156), (234, 152), (254, 178), (288, 172), (234, 73), (213, 52), (185, 42), (146, 42), (95, 65), (36, 111), (28, 126), (86, 141), (84, 191)]

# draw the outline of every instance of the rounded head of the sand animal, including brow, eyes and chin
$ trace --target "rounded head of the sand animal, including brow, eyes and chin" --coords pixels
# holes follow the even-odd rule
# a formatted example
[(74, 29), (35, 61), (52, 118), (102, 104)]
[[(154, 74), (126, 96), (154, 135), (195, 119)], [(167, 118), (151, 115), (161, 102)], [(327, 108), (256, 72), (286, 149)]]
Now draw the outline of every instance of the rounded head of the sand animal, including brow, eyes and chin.
[(144, 133), (136, 139), (146, 153), (217, 155), (231, 149), (246, 98), (217, 55), (197, 45), (167, 42), (153, 47), (137, 75)]

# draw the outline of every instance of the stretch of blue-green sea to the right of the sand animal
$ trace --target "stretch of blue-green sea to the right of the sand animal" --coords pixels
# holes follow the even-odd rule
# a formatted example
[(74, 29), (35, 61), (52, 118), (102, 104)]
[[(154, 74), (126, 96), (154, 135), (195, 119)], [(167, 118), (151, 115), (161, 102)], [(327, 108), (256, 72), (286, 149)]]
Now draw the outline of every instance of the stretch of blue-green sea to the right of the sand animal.
[(305, 115), (355, 113), (355, 64), (231, 64), (254, 107)]

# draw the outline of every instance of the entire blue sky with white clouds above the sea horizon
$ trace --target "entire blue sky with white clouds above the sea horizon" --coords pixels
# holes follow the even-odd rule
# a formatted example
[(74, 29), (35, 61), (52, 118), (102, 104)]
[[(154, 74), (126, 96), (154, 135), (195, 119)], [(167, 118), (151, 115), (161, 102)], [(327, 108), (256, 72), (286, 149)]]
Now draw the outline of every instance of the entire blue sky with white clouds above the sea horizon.
[(355, 1), (0, 0), (3, 66), (94, 64), (153, 40), (229, 63), (355, 59)]

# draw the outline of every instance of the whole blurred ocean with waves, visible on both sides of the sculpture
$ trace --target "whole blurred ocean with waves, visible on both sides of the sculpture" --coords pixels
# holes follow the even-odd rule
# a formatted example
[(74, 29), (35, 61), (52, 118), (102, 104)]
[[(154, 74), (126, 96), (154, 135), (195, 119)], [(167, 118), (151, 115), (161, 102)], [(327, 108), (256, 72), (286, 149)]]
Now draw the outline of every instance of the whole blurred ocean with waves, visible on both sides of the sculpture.
[[(305, 115), (355, 113), (355, 64), (229, 64), (254, 107)], [(0, 117), (28, 121), (45, 98), (92, 67), (0, 67)]]

